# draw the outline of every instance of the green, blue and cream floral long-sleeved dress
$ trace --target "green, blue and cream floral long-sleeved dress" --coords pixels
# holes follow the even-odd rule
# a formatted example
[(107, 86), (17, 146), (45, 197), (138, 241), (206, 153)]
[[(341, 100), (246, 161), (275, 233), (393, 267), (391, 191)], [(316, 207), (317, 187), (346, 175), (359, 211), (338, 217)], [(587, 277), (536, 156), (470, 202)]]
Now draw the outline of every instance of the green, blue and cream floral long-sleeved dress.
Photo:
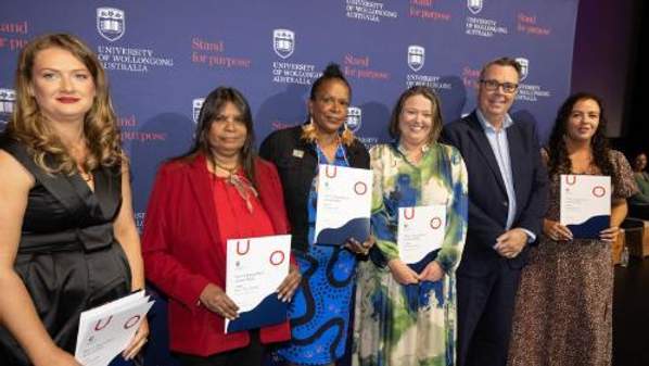
[(467, 172), (458, 150), (434, 143), (418, 164), (396, 143), (370, 151), (374, 172), (372, 230), (385, 263), (398, 257), (398, 207), (446, 205), (446, 232), (436, 257), (446, 275), (436, 282), (402, 286), (385, 263), (359, 264), (354, 323), (356, 366), (455, 364), (455, 269), (467, 232)]

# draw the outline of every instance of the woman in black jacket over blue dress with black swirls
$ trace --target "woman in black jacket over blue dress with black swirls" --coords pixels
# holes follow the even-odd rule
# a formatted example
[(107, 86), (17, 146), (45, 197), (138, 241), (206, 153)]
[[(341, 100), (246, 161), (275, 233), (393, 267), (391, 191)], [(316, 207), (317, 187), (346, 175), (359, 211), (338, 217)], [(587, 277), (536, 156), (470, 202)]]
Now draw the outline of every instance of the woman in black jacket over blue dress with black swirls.
[(275, 355), (293, 365), (333, 365), (345, 353), (357, 256), (371, 241), (314, 242), (318, 164), (369, 168), (367, 150), (344, 128), (351, 88), (329, 65), (311, 88), (309, 122), (271, 134), (259, 154), (277, 165), (303, 281), (289, 308), (292, 339)]

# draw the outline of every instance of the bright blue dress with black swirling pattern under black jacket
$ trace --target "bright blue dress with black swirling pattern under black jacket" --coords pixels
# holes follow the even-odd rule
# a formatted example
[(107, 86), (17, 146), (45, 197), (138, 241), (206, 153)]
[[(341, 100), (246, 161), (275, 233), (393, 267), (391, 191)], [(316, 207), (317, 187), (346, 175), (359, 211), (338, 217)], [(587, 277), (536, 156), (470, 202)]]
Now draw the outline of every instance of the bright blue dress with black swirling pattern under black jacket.
[[(321, 164), (348, 166), (345, 150), (339, 146), (333, 162), (328, 162), (316, 147)], [(311, 182), (308, 198), (308, 251), (296, 252), (302, 285), (289, 307), (291, 342), (280, 346), (277, 358), (296, 365), (324, 365), (345, 353), (352, 290), (356, 274), (356, 255), (342, 247), (314, 243), (318, 175)], [(277, 357), (279, 356), (279, 357)]]

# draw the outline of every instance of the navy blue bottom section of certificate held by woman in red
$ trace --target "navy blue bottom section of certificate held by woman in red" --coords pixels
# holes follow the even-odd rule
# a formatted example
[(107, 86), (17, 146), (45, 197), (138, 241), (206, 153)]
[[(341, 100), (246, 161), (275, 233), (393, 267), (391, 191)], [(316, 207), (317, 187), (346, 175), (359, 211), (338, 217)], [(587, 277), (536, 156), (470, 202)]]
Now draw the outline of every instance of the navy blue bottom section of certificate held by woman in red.
[(288, 319), (288, 306), (277, 298), (277, 292), (271, 293), (252, 311), (239, 313), (239, 318), (230, 320), (227, 333), (283, 323)]

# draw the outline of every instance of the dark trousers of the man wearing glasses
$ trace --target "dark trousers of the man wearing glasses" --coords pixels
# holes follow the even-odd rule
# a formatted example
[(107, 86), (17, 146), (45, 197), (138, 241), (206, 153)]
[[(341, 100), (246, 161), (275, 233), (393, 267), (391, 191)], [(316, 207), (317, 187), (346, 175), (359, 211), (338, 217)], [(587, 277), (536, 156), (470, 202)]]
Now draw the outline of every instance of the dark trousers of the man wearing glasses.
[(458, 366), (505, 366), (520, 269), (507, 263), (485, 277), (458, 274)]

